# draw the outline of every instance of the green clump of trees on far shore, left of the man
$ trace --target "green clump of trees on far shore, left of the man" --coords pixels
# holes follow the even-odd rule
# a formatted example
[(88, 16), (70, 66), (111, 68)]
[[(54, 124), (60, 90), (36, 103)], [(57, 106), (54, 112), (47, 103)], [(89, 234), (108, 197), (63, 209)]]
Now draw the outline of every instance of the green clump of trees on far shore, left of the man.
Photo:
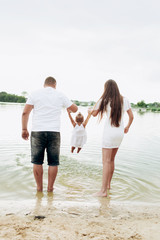
[(25, 103), (26, 98), (23, 96), (17, 96), (15, 94), (0, 92), (0, 102)]

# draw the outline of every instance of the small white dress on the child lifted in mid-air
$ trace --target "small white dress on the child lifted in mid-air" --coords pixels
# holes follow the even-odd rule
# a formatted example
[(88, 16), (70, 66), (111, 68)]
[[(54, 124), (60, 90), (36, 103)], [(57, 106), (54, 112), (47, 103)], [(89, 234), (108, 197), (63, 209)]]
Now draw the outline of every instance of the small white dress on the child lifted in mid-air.
[(86, 141), (87, 133), (83, 124), (81, 124), (80, 126), (76, 124), (72, 132), (71, 146), (82, 148)]

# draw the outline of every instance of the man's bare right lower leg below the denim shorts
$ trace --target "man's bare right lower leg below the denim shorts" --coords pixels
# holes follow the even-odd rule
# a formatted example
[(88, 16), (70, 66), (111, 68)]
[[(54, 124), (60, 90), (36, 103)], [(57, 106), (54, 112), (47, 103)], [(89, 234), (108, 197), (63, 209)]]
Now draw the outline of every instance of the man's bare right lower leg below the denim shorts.
[(53, 192), (53, 184), (58, 172), (58, 166), (48, 167), (48, 192)]

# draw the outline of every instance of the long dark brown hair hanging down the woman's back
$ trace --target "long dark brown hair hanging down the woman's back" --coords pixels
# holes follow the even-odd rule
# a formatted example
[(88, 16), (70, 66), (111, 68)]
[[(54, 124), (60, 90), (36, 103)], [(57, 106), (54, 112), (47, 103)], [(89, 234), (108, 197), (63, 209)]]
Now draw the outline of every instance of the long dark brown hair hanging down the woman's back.
[(119, 92), (117, 83), (109, 79), (104, 84), (104, 92), (101, 96), (101, 103), (99, 106), (100, 119), (102, 119), (104, 112), (107, 112), (107, 105), (111, 106), (111, 125), (115, 127), (120, 126), (122, 116), (123, 97)]

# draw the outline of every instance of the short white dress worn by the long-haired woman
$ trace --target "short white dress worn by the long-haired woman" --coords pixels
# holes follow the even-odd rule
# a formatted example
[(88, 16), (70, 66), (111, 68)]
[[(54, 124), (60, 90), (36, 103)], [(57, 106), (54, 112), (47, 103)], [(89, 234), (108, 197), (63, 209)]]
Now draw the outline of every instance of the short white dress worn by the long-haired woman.
[[(95, 110), (100, 106), (101, 99), (97, 103)], [(102, 136), (102, 148), (118, 148), (124, 137), (124, 123), (123, 117), (124, 113), (131, 108), (131, 105), (127, 98), (123, 97), (123, 108), (122, 108), (122, 118), (119, 127), (111, 125), (111, 107), (110, 103), (107, 106), (107, 112), (105, 115), (104, 130)]]

